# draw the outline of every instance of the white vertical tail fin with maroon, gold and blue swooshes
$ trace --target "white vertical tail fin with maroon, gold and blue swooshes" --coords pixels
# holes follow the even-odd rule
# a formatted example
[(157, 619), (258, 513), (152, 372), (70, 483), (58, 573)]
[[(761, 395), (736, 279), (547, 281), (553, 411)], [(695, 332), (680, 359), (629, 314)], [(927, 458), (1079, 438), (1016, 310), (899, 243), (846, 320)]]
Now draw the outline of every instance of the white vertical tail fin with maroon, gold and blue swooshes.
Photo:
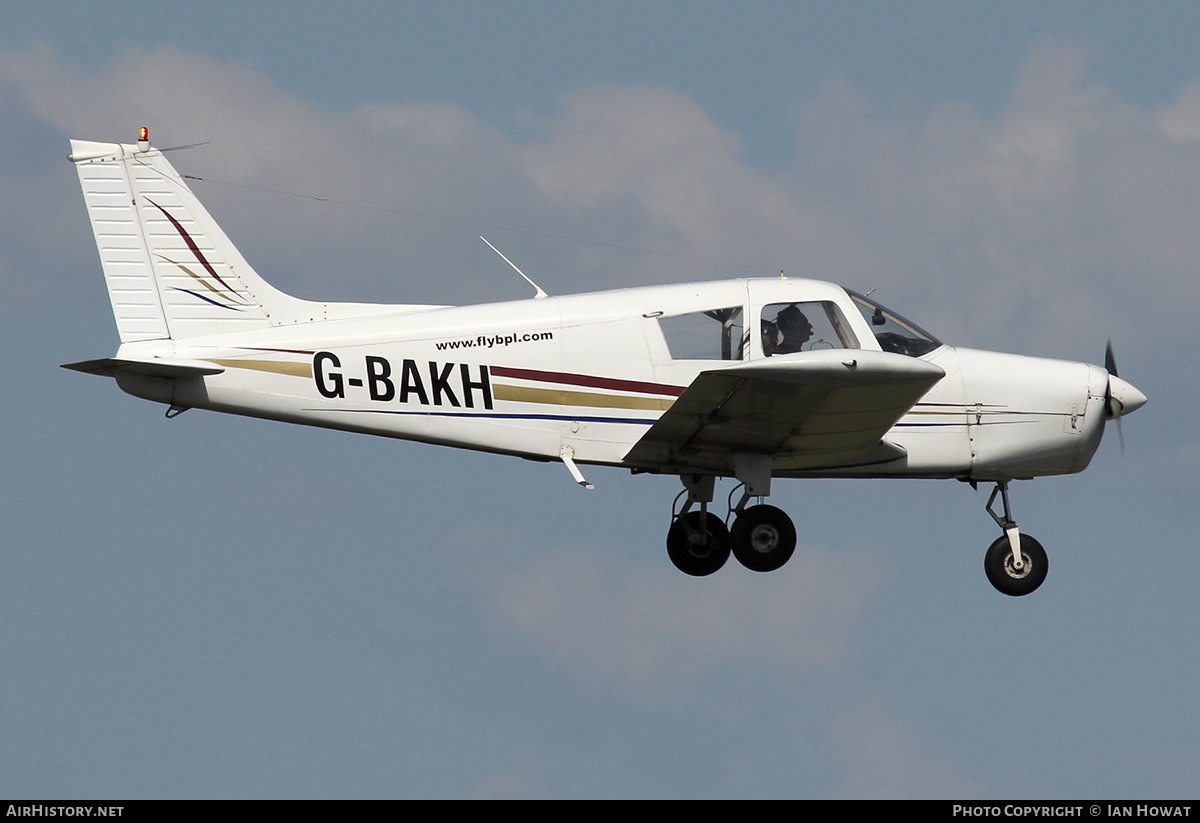
[(122, 343), (319, 319), (323, 304), (286, 295), (250, 268), (149, 140), (71, 140), (71, 161)]

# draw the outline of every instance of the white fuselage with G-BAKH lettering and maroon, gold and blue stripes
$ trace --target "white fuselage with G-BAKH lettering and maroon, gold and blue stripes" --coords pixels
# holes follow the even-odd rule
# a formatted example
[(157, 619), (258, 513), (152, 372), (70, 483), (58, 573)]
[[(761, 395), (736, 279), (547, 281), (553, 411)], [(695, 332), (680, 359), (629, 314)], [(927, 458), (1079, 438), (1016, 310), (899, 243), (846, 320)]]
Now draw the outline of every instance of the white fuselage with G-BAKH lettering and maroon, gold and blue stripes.
[[(538, 459), (558, 459), (570, 446), (580, 463), (628, 465), (632, 445), (697, 374), (764, 356), (756, 334), (745, 335), (749, 348), (738, 360), (672, 356), (662, 318), (724, 307), (757, 318), (772, 304), (818, 301), (841, 310), (860, 349), (881, 350), (840, 287), (742, 280), (402, 307), (395, 314), (126, 343), (119, 358), (206, 361), (224, 371), (184, 379), (122, 373), (119, 383), (180, 407)], [(949, 346), (922, 359), (944, 377), (888, 432), (906, 453), (871, 465), (805, 469), (790, 469), (781, 453), (773, 474), (997, 480), (1087, 465), (1103, 433), (1103, 370)]]

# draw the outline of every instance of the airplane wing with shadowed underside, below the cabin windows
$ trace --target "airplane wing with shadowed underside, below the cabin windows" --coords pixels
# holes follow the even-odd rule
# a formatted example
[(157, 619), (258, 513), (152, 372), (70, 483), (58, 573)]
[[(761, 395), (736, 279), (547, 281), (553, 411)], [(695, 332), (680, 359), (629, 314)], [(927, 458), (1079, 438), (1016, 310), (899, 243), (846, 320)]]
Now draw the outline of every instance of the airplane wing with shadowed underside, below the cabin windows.
[(924, 360), (860, 349), (701, 372), (625, 464), (732, 474), (737, 453), (772, 455), (776, 471), (896, 459), (905, 450), (883, 435), (944, 374)]

